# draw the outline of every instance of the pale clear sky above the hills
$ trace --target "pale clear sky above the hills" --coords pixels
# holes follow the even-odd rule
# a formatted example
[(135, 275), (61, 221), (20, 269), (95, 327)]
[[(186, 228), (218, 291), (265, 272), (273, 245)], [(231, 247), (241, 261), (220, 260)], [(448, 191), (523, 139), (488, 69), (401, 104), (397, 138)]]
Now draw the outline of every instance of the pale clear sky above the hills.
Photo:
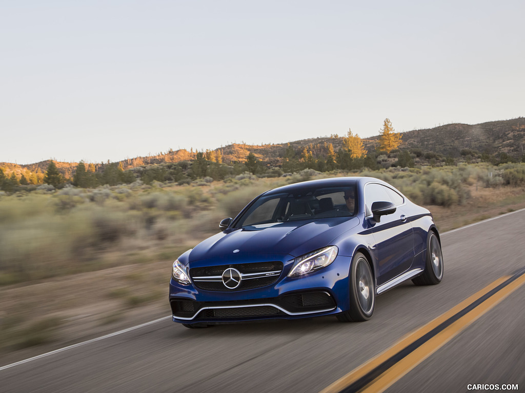
[(525, 116), (525, 2), (0, 0), (0, 162)]

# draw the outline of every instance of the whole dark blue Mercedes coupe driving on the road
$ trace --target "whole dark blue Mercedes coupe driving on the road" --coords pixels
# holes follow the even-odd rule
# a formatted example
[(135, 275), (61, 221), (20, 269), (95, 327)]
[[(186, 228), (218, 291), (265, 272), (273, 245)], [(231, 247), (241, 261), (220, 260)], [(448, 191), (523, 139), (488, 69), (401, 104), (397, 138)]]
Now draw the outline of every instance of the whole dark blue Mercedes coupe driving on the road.
[(219, 227), (173, 263), (173, 321), (187, 328), (321, 315), (366, 321), (376, 294), (443, 278), (432, 214), (370, 177), (285, 185)]

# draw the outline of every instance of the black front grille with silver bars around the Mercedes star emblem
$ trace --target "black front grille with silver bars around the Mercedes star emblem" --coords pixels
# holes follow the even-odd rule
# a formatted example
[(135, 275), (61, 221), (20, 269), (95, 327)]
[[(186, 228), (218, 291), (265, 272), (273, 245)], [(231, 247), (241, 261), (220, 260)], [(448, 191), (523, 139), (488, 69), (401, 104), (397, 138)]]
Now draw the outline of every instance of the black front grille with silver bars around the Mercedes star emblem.
[[(275, 283), (282, 267), (282, 262), (279, 261), (205, 266), (190, 269), (190, 277), (195, 287), (199, 289), (218, 292), (242, 291)], [(228, 288), (223, 283), (222, 274), (228, 268), (237, 269), (242, 276), (237, 288)]]

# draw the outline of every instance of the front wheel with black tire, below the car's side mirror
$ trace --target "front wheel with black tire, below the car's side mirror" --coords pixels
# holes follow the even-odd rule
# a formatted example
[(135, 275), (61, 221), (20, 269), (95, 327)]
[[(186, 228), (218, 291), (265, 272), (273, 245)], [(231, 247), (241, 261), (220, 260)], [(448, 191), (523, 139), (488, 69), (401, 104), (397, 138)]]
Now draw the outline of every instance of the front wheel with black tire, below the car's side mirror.
[(375, 281), (370, 261), (361, 253), (350, 267), (350, 309), (337, 315), (340, 322), (368, 321), (375, 308)]

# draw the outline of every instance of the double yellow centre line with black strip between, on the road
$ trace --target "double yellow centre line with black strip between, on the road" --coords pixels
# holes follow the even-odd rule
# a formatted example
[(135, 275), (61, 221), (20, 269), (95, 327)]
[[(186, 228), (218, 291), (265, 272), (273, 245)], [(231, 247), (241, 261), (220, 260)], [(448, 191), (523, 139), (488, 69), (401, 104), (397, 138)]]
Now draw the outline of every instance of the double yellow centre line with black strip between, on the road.
[(525, 283), (525, 268), (497, 279), (453, 309), (409, 333), (321, 393), (382, 392)]

